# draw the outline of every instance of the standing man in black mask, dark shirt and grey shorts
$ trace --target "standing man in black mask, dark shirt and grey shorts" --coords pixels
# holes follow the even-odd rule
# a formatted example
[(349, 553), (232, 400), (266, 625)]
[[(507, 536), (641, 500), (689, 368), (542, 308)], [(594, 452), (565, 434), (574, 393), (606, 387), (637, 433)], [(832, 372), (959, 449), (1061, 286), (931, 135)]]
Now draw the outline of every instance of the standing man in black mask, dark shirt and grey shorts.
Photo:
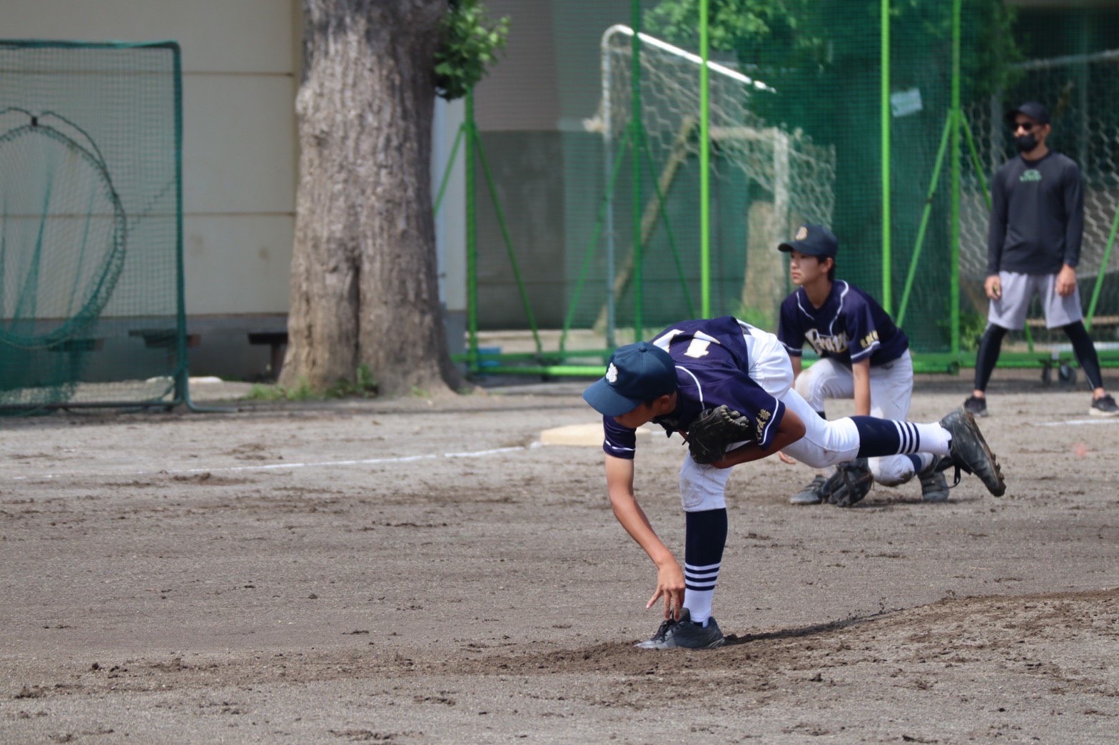
[(1119, 406), (1103, 389), (1100, 361), (1084, 329), (1076, 289), (1076, 264), (1084, 228), (1080, 170), (1066, 155), (1050, 150), (1049, 111), (1024, 103), (1006, 115), (1014, 128), (1019, 157), (995, 173), (990, 228), (987, 235), (987, 280), (990, 299), (987, 330), (976, 356), (975, 390), (963, 407), (987, 415), (985, 390), (998, 361), (1003, 338), (1025, 326), (1034, 294), (1041, 295), (1046, 328), (1060, 328), (1092, 386), (1089, 414), (1115, 416)]

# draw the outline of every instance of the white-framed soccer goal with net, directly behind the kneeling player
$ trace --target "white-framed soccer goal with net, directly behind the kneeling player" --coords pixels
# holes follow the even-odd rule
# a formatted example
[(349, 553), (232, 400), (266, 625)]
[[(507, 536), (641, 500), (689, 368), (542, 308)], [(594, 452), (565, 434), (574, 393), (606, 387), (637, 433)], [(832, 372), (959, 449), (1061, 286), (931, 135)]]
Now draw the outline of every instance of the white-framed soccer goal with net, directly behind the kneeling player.
[[(662, 260), (659, 265), (677, 264), (674, 279), (694, 284), (698, 272), (695, 226), (700, 211), (695, 187), (704, 147), (711, 148), (709, 219), (718, 236), (718, 276), (733, 275), (739, 283), (736, 289), (723, 287), (715, 312), (754, 314), (754, 322), (772, 323), (786, 291), (784, 264), (774, 247), (803, 221), (830, 223), (834, 148), (814, 143), (800, 130), (764, 121), (754, 104), (775, 91), (735, 63), (711, 60), (709, 145), (704, 143), (699, 136), (703, 59), (648, 34), (638, 34), (638, 39), (634, 65), (633, 30), (615, 25), (603, 34), (600, 107), (584, 123), (587, 131), (602, 136), (606, 183), (603, 235), (612, 291), (598, 312), (595, 327), (612, 329), (619, 301), (632, 292), (638, 229), (640, 245), (649, 251), (656, 249), (658, 239), (676, 244), (667, 248), (671, 261)], [(619, 194), (620, 154), (626, 149), (631, 158), (641, 158), (648, 179), (639, 228), (632, 219), (633, 206)], [(634, 227), (627, 233), (630, 223)], [(739, 265), (731, 268), (732, 262)], [(649, 273), (642, 281), (660, 280), (668, 281)], [(695, 312), (694, 308), (679, 312), (688, 310)]]

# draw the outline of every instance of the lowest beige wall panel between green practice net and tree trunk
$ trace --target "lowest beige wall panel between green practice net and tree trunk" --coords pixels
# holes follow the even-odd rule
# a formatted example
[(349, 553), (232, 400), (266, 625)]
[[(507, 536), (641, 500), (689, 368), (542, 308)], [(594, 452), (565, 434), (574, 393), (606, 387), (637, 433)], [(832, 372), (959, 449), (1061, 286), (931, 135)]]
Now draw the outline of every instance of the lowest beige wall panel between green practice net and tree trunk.
[(186, 216), (187, 313), (286, 313), (290, 215)]

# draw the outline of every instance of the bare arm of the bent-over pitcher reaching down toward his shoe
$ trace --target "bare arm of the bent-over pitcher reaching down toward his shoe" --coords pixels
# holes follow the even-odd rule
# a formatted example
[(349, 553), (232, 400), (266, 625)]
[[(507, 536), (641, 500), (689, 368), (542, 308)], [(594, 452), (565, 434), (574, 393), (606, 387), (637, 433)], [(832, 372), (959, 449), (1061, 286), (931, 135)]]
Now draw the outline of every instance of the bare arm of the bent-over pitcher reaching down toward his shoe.
[(665, 617), (678, 617), (684, 607), (684, 572), (668, 547), (657, 537), (645, 510), (633, 496), (633, 461), (606, 455), (606, 491), (614, 517), (657, 565), (657, 590), (646, 607), (665, 602)]

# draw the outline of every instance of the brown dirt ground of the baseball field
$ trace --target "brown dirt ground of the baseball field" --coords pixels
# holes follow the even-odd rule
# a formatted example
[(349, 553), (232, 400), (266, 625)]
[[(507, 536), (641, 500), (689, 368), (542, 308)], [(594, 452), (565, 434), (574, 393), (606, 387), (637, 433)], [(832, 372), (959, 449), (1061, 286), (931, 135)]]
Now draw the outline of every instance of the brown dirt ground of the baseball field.
[[(632, 647), (656, 573), (601, 450), (538, 444), (584, 383), (0, 421), (0, 741), (1115, 742), (1119, 421), (1038, 372), (990, 387), (1002, 499), (740, 466), (705, 652)], [(678, 556), (681, 453), (637, 483)]]

